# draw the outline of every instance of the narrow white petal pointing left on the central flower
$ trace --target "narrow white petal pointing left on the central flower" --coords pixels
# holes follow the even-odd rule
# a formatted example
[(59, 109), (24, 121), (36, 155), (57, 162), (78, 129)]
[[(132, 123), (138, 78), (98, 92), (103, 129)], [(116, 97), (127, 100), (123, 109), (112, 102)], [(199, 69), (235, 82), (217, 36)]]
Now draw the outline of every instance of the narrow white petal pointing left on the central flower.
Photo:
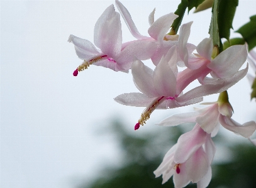
[(140, 92), (131, 92), (115, 97), (114, 101), (127, 106), (146, 107), (152, 102), (152, 98)]

